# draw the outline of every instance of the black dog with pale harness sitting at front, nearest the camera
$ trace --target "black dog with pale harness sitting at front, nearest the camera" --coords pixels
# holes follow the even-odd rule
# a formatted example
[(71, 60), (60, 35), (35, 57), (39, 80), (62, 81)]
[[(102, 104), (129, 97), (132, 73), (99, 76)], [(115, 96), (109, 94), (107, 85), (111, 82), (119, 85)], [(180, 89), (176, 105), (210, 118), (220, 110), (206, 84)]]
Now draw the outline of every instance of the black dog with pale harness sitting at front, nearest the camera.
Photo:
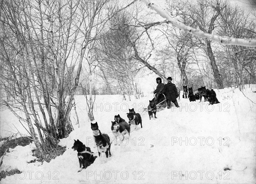
[[(90, 164), (92, 164), (97, 156), (93, 156), (93, 152), (91, 152), (90, 147), (86, 147), (82, 142), (78, 139), (77, 141), (74, 139), (74, 145), (72, 149), (77, 150), (77, 157), (79, 160), (80, 172), (82, 169), (86, 169)], [(83, 165), (83, 167), (81, 167)]]

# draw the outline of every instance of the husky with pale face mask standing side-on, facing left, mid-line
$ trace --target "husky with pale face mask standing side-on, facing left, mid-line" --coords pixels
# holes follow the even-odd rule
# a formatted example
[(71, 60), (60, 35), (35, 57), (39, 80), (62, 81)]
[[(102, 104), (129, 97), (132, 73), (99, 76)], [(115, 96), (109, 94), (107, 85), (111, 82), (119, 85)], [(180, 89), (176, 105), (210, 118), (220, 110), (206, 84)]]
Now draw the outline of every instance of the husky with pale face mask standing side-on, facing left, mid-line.
[[(111, 121), (112, 122), (112, 121)], [(125, 134), (129, 134), (130, 136), (130, 125), (127, 122), (112, 122), (111, 126), (112, 133), (115, 136), (116, 142), (115, 145), (117, 144), (117, 137), (122, 136), (122, 140), (125, 139)], [(120, 141), (122, 141), (120, 139)]]

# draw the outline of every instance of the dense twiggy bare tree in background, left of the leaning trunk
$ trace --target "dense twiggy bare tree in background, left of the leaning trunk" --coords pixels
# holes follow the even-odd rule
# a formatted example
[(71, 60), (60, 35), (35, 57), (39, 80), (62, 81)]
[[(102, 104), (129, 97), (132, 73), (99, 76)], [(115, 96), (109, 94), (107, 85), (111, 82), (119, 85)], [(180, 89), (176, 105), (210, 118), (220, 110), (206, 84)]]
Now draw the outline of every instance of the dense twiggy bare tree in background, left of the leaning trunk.
[(108, 30), (105, 37), (101, 37), (98, 50), (101, 52), (100, 68), (104, 70), (105, 78), (115, 79), (114, 85), (122, 94), (134, 95), (138, 98), (136, 76), (141, 68), (137, 68), (138, 62), (134, 59), (130, 40), (136, 37), (135, 27), (129, 27), (131, 17), (127, 11), (115, 14), (110, 22), (115, 25)]

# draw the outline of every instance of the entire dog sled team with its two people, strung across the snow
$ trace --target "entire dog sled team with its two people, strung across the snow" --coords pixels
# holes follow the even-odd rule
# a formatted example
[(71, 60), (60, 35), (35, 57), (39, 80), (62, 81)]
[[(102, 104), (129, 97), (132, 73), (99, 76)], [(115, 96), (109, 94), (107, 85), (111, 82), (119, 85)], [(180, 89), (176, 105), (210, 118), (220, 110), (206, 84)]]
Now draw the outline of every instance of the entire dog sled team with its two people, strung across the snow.
[[(157, 88), (154, 90), (154, 98), (152, 100), (149, 100), (148, 105), (148, 115), (149, 119), (153, 117), (156, 117), (157, 107), (166, 105), (167, 102), (167, 108), (169, 109), (171, 107), (171, 102), (174, 103), (174, 105), (179, 108), (177, 98), (180, 99), (180, 90), (177, 90), (175, 84), (172, 83), (172, 77), (168, 77), (167, 84), (162, 83), (162, 79), (160, 77), (157, 77)], [(210, 104), (217, 104), (218, 99), (216, 97), (216, 93), (213, 90), (206, 89), (205, 86), (198, 88), (197, 93), (193, 93), (192, 88), (187, 88), (187, 86), (183, 86), (183, 98), (188, 98), (190, 102), (199, 100), (201, 102), (202, 97), (204, 96), (204, 102), (209, 101)], [(135, 126), (135, 129), (137, 129), (138, 125), (142, 128), (142, 119), (139, 113), (136, 113), (134, 111), (134, 108), (129, 109), (129, 113), (127, 113), (128, 122), (125, 121), (125, 119), (122, 119), (120, 115), (114, 116), (114, 121), (111, 125), (111, 131), (115, 137), (115, 145), (117, 144), (117, 137), (121, 138), (120, 141), (122, 141), (125, 138), (125, 135), (128, 135), (130, 137), (131, 133), (131, 125)], [(99, 157), (102, 156), (103, 153), (105, 153), (106, 157), (111, 156), (111, 140), (108, 136), (108, 134), (101, 133), (99, 130), (98, 123), (91, 123), (91, 130), (93, 131), (93, 137), (98, 149)], [(72, 149), (76, 150), (77, 157), (79, 159), (79, 171), (82, 169), (86, 169), (90, 164), (93, 164), (97, 156), (94, 156), (94, 154), (90, 150), (90, 147), (86, 147), (82, 142), (79, 141), (79, 139), (74, 140), (74, 144)]]

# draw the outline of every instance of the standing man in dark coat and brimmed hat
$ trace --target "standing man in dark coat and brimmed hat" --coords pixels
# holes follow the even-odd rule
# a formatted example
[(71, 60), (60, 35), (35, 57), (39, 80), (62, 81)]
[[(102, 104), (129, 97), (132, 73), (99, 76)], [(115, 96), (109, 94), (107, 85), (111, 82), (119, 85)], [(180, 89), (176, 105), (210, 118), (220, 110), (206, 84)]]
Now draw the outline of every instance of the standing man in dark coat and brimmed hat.
[(168, 109), (170, 108), (171, 101), (175, 104), (177, 108), (179, 108), (180, 106), (178, 105), (178, 102), (177, 102), (177, 97), (179, 97), (179, 95), (178, 95), (178, 91), (175, 84), (172, 83), (172, 77), (169, 76), (167, 78), (167, 81), (168, 83), (164, 85), (164, 88), (162, 91), (162, 93), (166, 95), (166, 101), (168, 105), (167, 108)]

